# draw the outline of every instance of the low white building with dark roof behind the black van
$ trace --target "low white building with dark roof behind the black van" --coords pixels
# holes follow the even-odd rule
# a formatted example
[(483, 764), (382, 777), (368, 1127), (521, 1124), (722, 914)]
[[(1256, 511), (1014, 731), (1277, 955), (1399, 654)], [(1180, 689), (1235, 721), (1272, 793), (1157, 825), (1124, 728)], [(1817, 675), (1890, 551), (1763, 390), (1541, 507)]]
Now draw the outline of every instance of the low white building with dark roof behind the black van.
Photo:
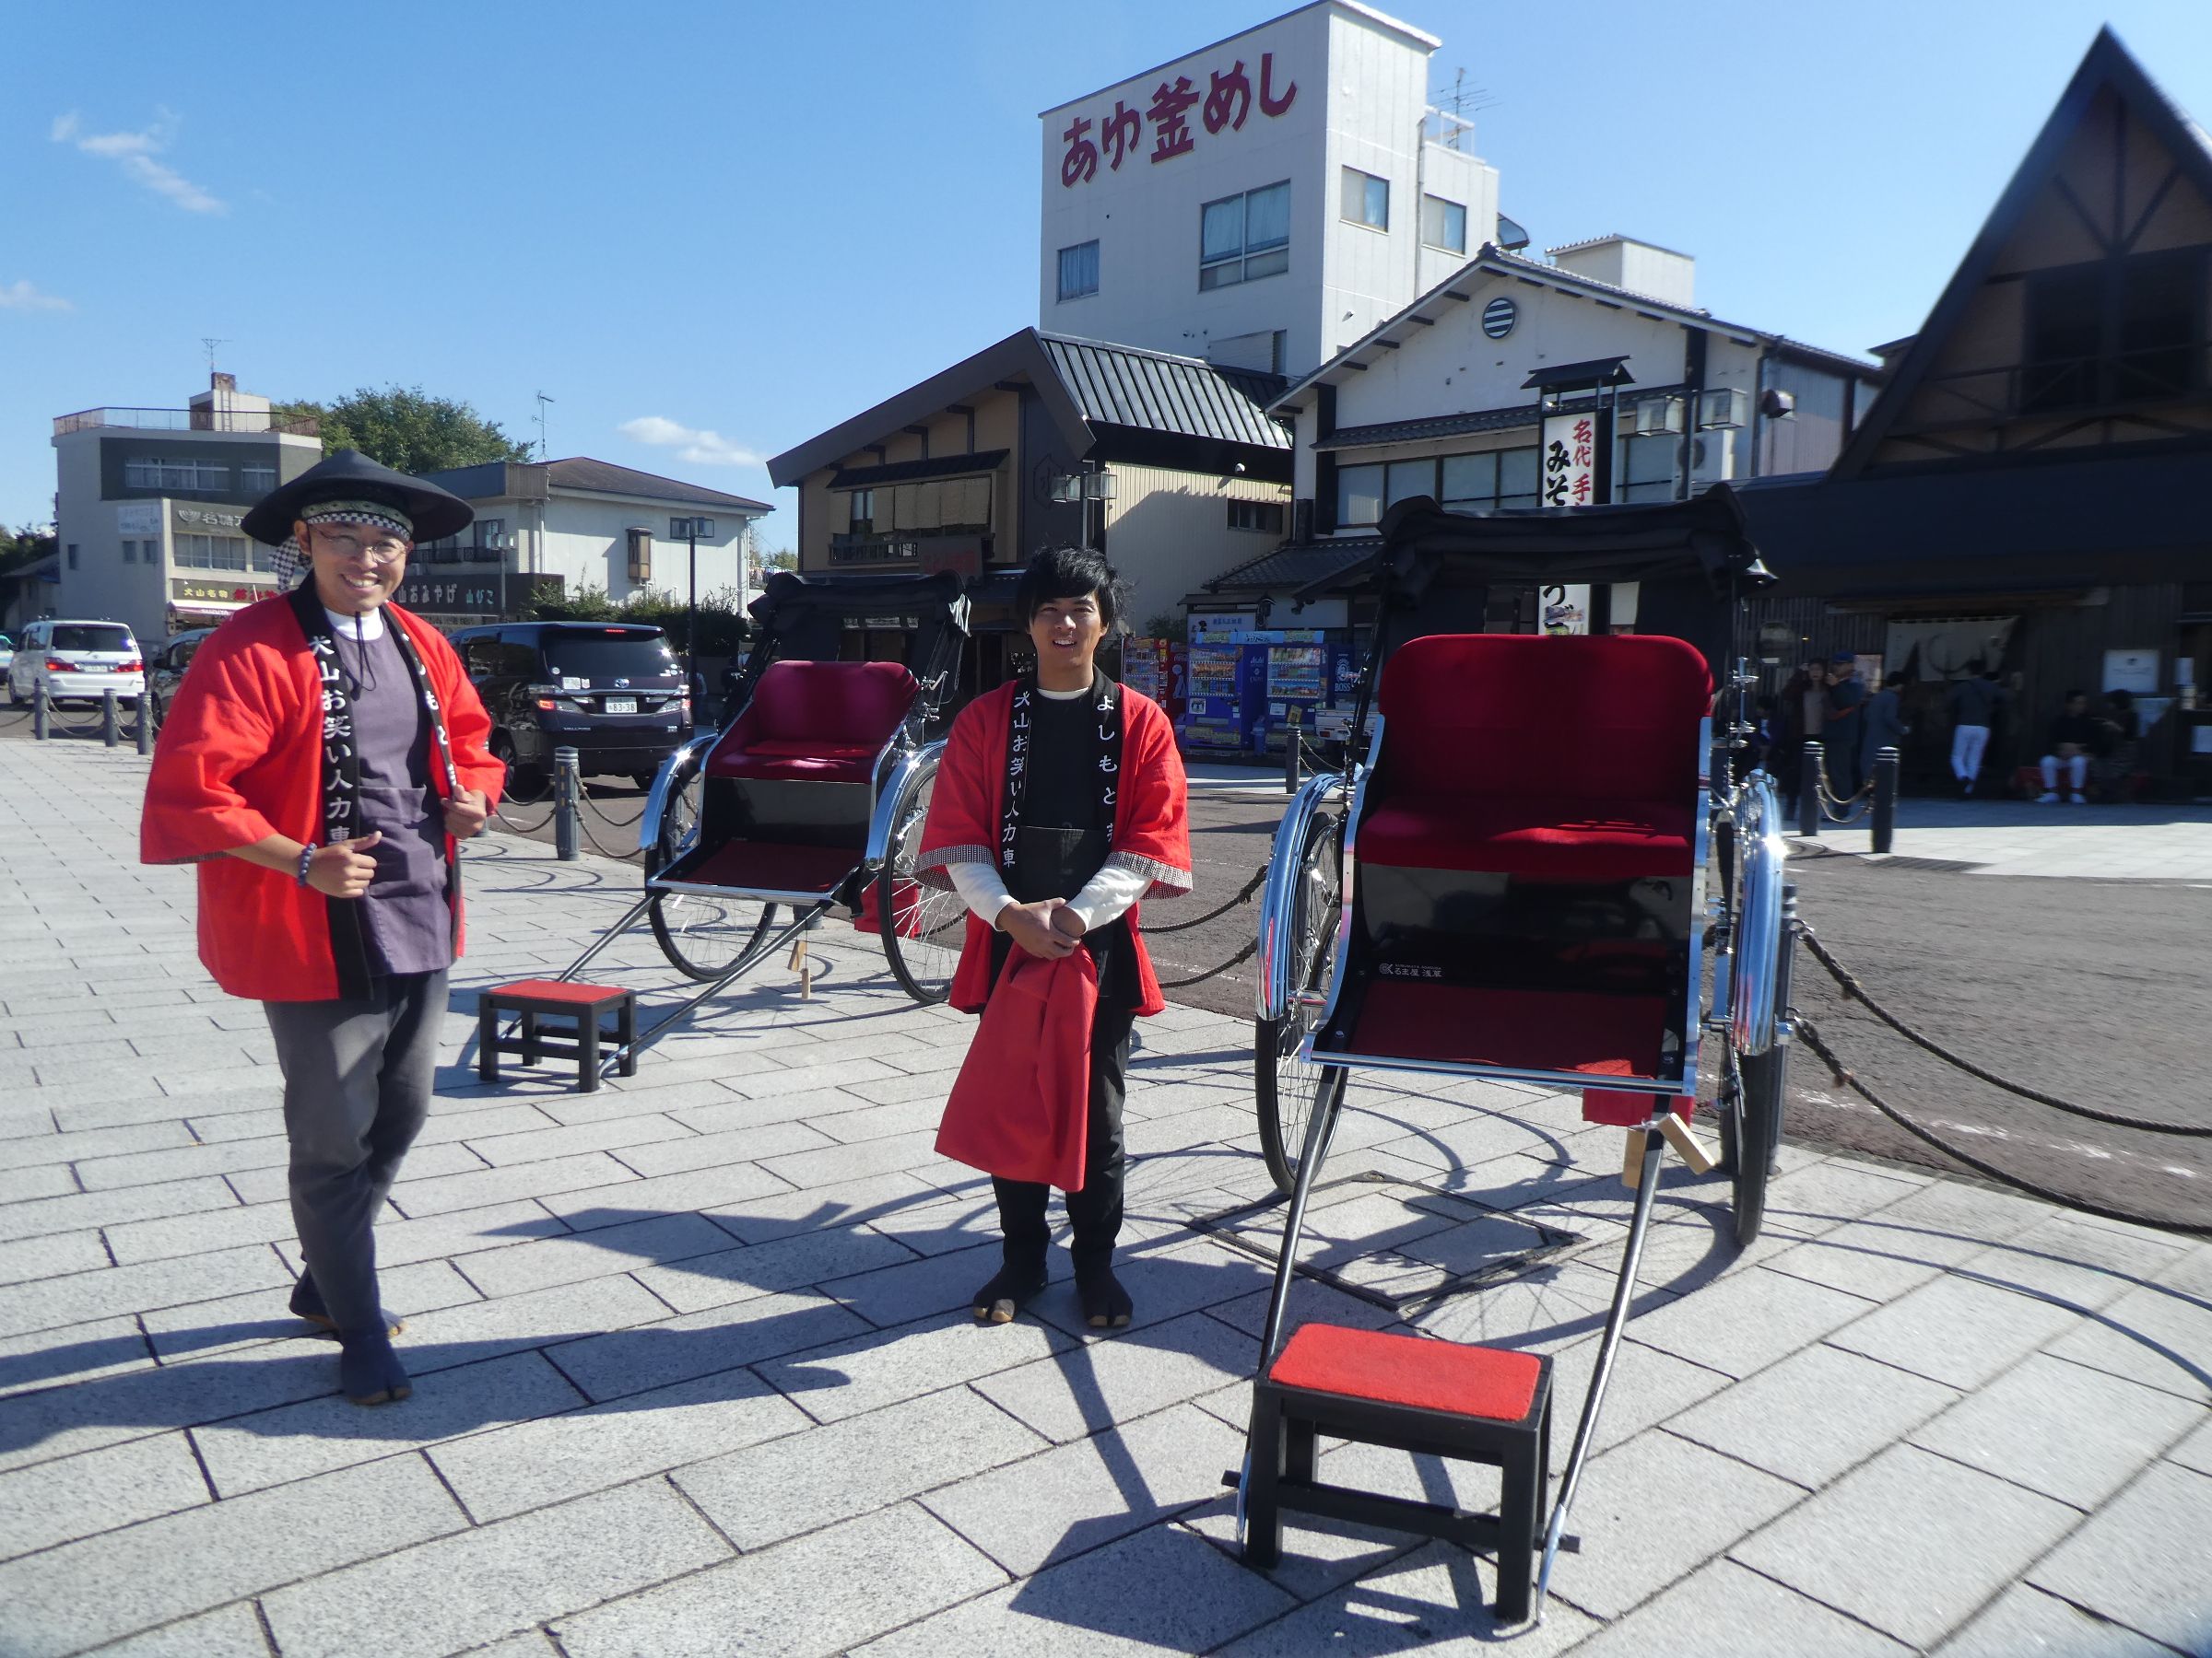
[[(774, 511), (745, 495), (582, 455), (495, 460), (422, 478), (469, 502), (476, 524), (418, 546), (398, 601), (451, 623), (518, 615), (533, 588), (555, 581), (571, 595), (599, 588), (617, 604), (648, 588), (690, 597), (686, 524), (692, 520), (708, 524), (697, 537), (699, 597), (741, 592), (745, 528)], [(759, 573), (750, 577), (757, 590)]]

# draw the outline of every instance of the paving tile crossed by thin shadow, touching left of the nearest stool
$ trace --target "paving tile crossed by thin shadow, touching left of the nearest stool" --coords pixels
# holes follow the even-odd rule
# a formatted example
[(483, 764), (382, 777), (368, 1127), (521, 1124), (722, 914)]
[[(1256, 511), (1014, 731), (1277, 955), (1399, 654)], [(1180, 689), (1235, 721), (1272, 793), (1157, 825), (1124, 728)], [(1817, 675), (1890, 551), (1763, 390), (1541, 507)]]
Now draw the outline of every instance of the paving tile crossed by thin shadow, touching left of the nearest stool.
[(1055, 1444), (1250, 1382), (1259, 1342), (1217, 1318), (1186, 1313), (1086, 1342), (1048, 1360), (982, 1377), (973, 1388)]

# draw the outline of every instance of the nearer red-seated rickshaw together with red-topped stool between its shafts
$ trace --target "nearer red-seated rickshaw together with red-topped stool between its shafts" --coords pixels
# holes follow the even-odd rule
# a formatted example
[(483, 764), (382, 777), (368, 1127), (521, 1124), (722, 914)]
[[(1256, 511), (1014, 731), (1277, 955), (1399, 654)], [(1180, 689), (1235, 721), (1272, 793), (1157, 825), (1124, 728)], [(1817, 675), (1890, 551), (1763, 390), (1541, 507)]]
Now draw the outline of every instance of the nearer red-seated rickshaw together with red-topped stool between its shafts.
[[(1374, 604), (1340, 769), (1292, 798), (1259, 915), (1259, 1136), (1287, 1196), (1239, 1486), (1245, 1559), (1283, 1512), (1498, 1550), (1498, 1616), (1542, 1616), (1659, 1185), (1712, 1077), (1734, 1238), (1765, 1211), (1787, 1066), (1783, 818), (1734, 776), (1752, 683), (1730, 646), (1772, 581), (1721, 486), (1688, 502), (1444, 513), (1394, 506), (1383, 546), (1298, 601)], [(1637, 632), (1486, 632), (1551, 584), (1637, 584)], [(1615, 588), (1617, 590), (1617, 588)], [(1714, 699), (1708, 663), (1734, 661)], [(1719, 741), (1714, 707), (1721, 710)], [(1719, 867), (1719, 891), (1705, 869)], [(1705, 955), (1712, 955), (1710, 970)], [(1705, 1054), (1703, 1039), (1717, 1054)], [(1635, 1207), (1555, 1503), (1551, 1362), (1425, 1335), (1303, 1324), (1285, 1342), (1307, 1203), (1354, 1070), (1582, 1090), (1624, 1125)], [(1502, 1468), (1498, 1517), (1327, 1486), (1316, 1435)], [(1540, 1561), (1537, 1561), (1540, 1547)]]

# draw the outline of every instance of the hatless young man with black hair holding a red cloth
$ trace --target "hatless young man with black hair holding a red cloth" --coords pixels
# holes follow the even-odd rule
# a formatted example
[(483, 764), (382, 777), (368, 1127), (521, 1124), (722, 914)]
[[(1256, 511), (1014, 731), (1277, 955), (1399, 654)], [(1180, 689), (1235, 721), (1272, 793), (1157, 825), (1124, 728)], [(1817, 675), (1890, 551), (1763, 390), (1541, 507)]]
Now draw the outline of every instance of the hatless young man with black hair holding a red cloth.
[[(975, 1291), (978, 1322), (1004, 1324), (1044, 1289), (1051, 1178), (1066, 1192), (1084, 1318), (1117, 1329), (1133, 1313), (1113, 1273), (1128, 1035), (1166, 1008), (1137, 900), (1190, 891), (1183, 763), (1159, 705), (1097, 668), (1115, 626), (1102, 555), (1037, 553), (1015, 612), (1037, 665), (953, 721), (916, 867), (969, 906), (951, 1004), (984, 1012), (1000, 999), (1006, 1015), (984, 1017), (938, 1147), (993, 1176), (1002, 1267)], [(1042, 984), (1022, 990), (1044, 997), (1042, 1028), (1015, 1021), (1015, 979)], [(1055, 1101), (1082, 1123), (1046, 1174), (1033, 1150)]]

